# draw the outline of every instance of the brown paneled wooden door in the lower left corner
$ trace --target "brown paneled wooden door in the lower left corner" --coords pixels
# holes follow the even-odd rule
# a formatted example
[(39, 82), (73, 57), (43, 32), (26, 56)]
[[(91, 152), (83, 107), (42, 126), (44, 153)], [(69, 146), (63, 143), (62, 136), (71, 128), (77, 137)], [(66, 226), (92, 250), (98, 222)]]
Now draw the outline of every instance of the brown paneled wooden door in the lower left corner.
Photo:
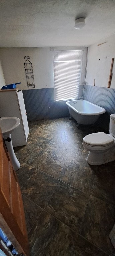
[(18, 253), (29, 255), (22, 195), (0, 132), (0, 227)]

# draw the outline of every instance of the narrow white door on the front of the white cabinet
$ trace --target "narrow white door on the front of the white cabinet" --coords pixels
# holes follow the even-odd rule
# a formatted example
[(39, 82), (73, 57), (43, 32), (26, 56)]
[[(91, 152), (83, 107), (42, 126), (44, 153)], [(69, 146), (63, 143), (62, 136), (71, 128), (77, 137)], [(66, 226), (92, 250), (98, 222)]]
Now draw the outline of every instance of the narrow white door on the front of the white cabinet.
[(24, 104), (23, 93), (22, 93), (22, 91), (20, 91), (20, 92), (17, 92), (16, 95), (17, 95), (17, 99), (18, 99), (18, 105), (19, 105), (19, 109), (20, 109), (24, 133), (25, 133), (25, 137), (27, 140), (28, 133), (29, 133), (29, 127), (28, 127), (28, 121), (27, 121), (27, 116), (26, 116), (26, 109), (25, 109), (25, 104)]

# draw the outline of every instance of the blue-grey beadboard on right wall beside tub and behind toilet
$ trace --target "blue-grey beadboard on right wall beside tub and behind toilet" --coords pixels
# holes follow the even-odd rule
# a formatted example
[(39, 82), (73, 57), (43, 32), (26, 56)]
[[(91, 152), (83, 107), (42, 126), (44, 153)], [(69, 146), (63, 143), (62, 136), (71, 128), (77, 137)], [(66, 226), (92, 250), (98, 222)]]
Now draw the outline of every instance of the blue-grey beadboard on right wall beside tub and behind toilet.
[(110, 114), (115, 113), (115, 89), (90, 85), (86, 85), (85, 89), (84, 100), (106, 109), (106, 113), (102, 114), (96, 123), (108, 132)]

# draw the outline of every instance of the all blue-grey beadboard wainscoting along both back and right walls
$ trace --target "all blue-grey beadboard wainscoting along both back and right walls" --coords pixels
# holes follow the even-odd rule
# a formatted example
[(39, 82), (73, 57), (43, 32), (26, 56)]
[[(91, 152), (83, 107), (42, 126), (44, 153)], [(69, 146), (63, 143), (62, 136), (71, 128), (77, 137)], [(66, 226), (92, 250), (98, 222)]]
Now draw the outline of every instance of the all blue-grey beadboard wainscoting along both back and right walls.
[[(106, 109), (96, 123), (108, 132), (110, 114), (115, 113), (115, 89), (90, 85), (85, 89), (85, 100)], [(23, 96), (28, 121), (69, 117), (66, 102), (54, 102), (54, 88), (23, 90)]]

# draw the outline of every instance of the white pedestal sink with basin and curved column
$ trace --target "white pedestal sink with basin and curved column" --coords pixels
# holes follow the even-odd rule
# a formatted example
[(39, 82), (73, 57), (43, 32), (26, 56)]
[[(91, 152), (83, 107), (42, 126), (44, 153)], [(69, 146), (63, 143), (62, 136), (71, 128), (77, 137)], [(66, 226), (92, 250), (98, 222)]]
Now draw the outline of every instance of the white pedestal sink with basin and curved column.
[[(14, 171), (17, 171), (20, 168), (20, 163), (14, 153), (12, 146), (11, 133), (19, 126), (20, 119), (17, 117), (1, 117), (0, 118), (0, 128), (3, 133), (4, 141), (8, 154), (13, 166)], [(10, 139), (8, 139), (10, 137)], [(7, 140), (8, 139), (8, 140)]]

